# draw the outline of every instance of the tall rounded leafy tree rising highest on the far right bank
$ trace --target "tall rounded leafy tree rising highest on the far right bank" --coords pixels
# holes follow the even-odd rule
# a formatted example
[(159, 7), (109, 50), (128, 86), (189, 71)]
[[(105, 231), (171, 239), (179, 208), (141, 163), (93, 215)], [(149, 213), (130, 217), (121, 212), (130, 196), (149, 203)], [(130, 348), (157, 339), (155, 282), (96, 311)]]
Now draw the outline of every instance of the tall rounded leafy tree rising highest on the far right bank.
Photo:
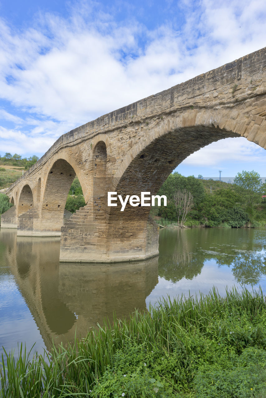
[(234, 178), (234, 187), (240, 195), (246, 211), (253, 215), (254, 205), (262, 201), (262, 181), (260, 175), (254, 170), (251, 172), (242, 171)]

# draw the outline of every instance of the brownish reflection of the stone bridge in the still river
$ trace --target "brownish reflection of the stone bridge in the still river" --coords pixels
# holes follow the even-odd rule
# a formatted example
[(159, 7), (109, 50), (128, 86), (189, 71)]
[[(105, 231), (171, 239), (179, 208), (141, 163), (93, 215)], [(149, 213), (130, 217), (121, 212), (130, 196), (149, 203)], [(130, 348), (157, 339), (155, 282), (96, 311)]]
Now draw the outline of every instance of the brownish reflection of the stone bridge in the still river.
[[(144, 310), (146, 297), (158, 283), (158, 258), (116, 264), (59, 263), (60, 238), (17, 237), (16, 230), (5, 229), (0, 231), (0, 241), (6, 266), (48, 349), (53, 341), (73, 341), (75, 333), (85, 336), (104, 317), (112, 319), (114, 311), (122, 318), (135, 308)], [(16, 342), (12, 345), (16, 347)]]

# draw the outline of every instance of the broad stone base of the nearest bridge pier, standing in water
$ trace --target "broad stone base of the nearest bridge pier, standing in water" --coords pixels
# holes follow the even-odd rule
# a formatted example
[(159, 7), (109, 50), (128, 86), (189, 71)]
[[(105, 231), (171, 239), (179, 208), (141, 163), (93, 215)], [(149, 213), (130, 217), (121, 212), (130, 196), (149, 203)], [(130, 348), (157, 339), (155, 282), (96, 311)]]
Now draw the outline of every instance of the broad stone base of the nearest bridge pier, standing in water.
[(159, 254), (159, 227), (150, 218), (138, 224), (93, 222), (87, 206), (61, 228), (60, 261), (115, 263), (141, 261)]

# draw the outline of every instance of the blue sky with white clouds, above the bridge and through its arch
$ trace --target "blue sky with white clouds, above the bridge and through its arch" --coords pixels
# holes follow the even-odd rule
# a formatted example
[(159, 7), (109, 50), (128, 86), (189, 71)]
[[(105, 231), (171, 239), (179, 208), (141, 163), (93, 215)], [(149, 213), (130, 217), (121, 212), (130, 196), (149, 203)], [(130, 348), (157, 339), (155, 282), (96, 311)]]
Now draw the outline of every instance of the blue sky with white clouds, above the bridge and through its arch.
[[(41, 157), (88, 121), (266, 46), (266, 0), (0, 0), (0, 155)], [(266, 176), (266, 151), (215, 142), (184, 176)]]

